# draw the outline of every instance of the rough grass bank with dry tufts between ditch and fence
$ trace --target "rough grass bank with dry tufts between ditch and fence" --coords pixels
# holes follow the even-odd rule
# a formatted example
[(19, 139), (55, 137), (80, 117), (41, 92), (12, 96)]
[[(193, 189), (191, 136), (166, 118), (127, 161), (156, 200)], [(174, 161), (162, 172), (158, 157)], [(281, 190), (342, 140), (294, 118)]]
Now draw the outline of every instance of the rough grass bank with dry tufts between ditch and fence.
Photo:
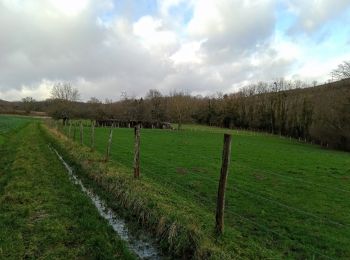
[(41, 129), (75, 173), (111, 208), (124, 209), (126, 218), (137, 223), (138, 228), (150, 231), (163, 251), (178, 258), (230, 258), (216, 246), (214, 237), (204, 236), (197, 219), (192, 217), (205, 215), (205, 210), (190, 200), (181, 202), (176, 194), (151, 180), (135, 180), (125, 167), (105, 162), (101, 154), (72, 142), (55, 129)]

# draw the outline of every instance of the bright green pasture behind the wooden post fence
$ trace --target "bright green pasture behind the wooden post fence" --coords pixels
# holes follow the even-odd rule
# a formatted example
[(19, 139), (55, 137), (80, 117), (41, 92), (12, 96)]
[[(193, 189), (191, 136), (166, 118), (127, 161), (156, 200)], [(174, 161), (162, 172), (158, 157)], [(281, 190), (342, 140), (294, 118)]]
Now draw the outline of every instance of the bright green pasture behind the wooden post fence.
[[(65, 129), (67, 131), (67, 129)], [(105, 153), (109, 129), (96, 129)], [(141, 175), (198, 208), (213, 236), (223, 133), (186, 126), (142, 129)], [(78, 140), (78, 131), (76, 132)], [(133, 129), (114, 129), (112, 160), (131, 172)], [(84, 130), (90, 144), (90, 129)], [(295, 140), (233, 132), (225, 233), (218, 243), (240, 258), (350, 258), (350, 156)], [(179, 209), (184, 214), (186, 209)]]

